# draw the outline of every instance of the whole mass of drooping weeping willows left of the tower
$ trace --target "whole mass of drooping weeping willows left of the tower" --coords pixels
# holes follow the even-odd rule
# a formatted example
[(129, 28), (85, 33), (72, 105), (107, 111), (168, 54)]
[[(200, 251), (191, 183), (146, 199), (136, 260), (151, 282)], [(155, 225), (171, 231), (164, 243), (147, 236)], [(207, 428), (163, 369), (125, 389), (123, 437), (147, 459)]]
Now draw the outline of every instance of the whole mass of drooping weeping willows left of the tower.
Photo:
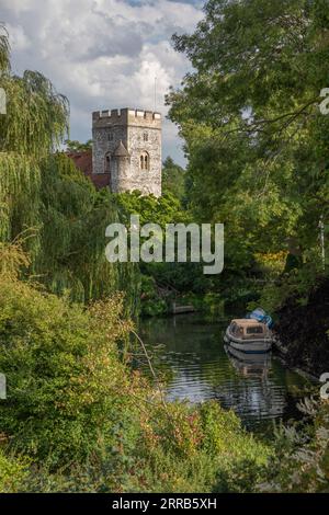
[(24, 234), (29, 273), (48, 289), (89, 301), (122, 289), (136, 308), (138, 268), (105, 259), (105, 227), (117, 219), (106, 191), (98, 192), (58, 151), (68, 134), (69, 103), (43, 75), (11, 73), (10, 48), (0, 25), (0, 241)]

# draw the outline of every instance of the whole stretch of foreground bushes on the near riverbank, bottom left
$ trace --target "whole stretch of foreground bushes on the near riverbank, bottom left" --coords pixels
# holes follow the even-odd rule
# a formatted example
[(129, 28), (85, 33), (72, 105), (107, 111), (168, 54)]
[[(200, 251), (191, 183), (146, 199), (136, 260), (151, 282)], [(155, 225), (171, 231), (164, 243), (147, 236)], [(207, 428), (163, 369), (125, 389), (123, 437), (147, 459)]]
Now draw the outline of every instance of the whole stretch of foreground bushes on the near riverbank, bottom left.
[(88, 309), (71, 304), (19, 281), (23, 256), (19, 245), (2, 247), (0, 369), (8, 399), (0, 402), (0, 433), (22, 456), (3, 458), (3, 490), (211, 491), (218, 470), (227, 481), (241, 456), (256, 465), (266, 459), (266, 447), (232, 412), (216, 403), (166, 404), (120, 359), (117, 344), (132, 327), (120, 296)]

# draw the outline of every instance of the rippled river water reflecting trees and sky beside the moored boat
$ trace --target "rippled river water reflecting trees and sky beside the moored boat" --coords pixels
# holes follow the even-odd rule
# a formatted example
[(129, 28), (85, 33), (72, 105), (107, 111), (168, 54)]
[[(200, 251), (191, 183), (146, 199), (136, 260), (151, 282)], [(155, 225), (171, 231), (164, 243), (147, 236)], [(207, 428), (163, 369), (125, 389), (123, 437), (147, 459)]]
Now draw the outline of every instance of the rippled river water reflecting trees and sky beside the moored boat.
[(310, 384), (271, 354), (248, 358), (230, 351), (223, 340), (228, 320), (211, 323), (195, 313), (146, 319), (139, 332), (156, 351), (169, 400), (216, 399), (234, 409), (247, 428), (270, 434), (272, 421), (299, 417), (296, 402)]

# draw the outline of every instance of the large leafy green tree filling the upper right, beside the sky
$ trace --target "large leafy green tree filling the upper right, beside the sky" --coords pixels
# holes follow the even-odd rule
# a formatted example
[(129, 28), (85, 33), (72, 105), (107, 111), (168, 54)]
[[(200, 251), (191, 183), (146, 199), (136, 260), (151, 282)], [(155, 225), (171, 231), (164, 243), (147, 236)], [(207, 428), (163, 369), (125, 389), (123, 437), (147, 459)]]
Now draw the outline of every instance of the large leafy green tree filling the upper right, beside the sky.
[(224, 283), (230, 271), (257, 277), (254, 254), (290, 251), (291, 239), (317, 268), (329, 216), (329, 122), (318, 108), (328, 16), (306, 0), (209, 0), (204, 11), (192, 35), (173, 38), (194, 69), (167, 99), (189, 156), (189, 207), (225, 224)]

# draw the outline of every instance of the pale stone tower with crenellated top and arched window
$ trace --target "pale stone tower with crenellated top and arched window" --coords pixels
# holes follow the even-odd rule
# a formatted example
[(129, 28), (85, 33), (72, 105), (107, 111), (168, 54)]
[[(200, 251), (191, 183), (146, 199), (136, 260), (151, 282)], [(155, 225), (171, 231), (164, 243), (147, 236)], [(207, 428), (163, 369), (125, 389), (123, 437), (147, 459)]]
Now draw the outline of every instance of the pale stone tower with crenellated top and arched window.
[(92, 173), (113, 193), (161, 195), (161, 115), (124, 108), (92, 113)]

